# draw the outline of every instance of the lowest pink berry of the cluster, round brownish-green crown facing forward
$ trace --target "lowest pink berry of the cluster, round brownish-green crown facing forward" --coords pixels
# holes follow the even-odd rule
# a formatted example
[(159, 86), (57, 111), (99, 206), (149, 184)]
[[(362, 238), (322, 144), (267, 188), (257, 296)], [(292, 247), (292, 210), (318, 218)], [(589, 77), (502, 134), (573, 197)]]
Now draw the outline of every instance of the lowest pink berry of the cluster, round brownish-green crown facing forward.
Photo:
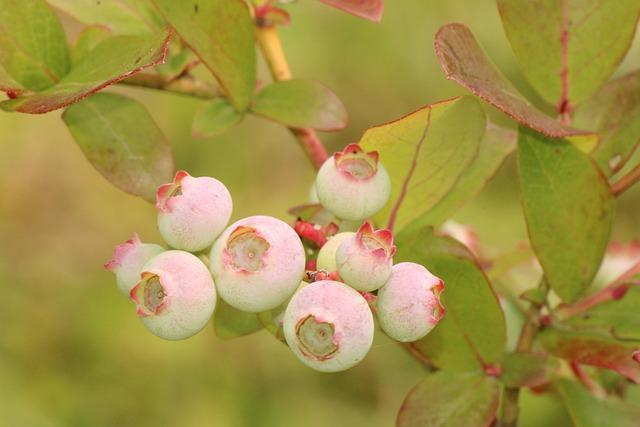
[(284, 336), (305, 365), (338, 372), (358, 364), (373, 342), (367, 301), (344, 283), (322, 280), (296, 292), (284, 314)]

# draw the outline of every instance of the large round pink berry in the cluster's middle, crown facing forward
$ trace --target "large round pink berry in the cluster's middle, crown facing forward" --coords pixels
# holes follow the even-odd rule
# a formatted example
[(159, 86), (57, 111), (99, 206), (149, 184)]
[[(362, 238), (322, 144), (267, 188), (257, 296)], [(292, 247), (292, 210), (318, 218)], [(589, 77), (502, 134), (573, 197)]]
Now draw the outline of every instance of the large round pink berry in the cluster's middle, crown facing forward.
[(276, 308), (295, 292), (305, 272), (300, 238), (269, 216), (241, 219), (211, 248), (209, 268), (220, 297), (248, 312)]

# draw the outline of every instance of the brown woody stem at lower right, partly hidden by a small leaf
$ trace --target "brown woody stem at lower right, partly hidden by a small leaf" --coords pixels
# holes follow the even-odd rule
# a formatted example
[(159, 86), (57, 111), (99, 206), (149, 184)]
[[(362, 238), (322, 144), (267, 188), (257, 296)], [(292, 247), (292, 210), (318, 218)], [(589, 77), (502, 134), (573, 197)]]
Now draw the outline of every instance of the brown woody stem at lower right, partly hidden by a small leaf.
[[(544, 301), (547, 299), (549, 293), (549, 285), (546, 279), (543, 277), (538, 286), (544, 293)], [(533, 340), (536, 337), (538, 330), (540, 329), (540, 311), (544, 307), (542, 303), (531, 303), (526, 313), (525, 324), (520, 332), (520, 338), (516, 346), (517, 352), (530, 351), (533, 346)], [(507, 387), (504, 390), (504, 401), (502, 405), (502, 416), (498, 425), (500, 427), (515, 427), (518, 423), (518, 398), (520, 397), (519, 388)]]

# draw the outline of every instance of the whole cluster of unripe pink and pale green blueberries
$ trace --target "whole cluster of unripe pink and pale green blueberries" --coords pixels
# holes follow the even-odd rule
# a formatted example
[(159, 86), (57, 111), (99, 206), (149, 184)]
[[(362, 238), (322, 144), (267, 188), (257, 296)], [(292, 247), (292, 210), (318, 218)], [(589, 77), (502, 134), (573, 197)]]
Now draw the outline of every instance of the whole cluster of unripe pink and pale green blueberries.
[[(105, 266), (144, 326), (165, 339), (204, 328), (217, 295), (241, 311), (275, 313), (271, 319), (293, 353), (319, 371), (348, 369), (365, 357), (373, 342), (372, 310), (391, 338), (424, 337), (444, 314), (443, 282), (421, 265), (393, 265), (391, 231), (375, 230), (367, 220), (391, 193), (377, 153), (356, 144), (335, 153), (320, 168), (315, 190), (335, 216), (330, 227), (300, 221), (291, 227), (268, 216), (227, 226), (227, 188), (180, 171), (158, 189), (156, 203), (158, 229), (173, 249), (134, 235)], [(340, 232), (336, 223), (361, 225)], [(300, 236), (318, 250), (305, 248)], [(208, 257), (193, 254), (209, 247)], [(315, 262), (307, 255), (317, 255)]]

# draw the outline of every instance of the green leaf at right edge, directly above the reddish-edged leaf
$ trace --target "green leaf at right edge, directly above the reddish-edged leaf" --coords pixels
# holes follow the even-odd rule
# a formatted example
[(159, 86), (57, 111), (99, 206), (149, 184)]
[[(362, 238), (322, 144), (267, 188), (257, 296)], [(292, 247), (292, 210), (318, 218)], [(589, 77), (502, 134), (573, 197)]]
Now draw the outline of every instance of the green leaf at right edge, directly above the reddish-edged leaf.
[(622, 299), (600, 303), (571, 317), (567, 323), (574, 328), (598, 330), (621, 340), (640, 342), (639, 312), (640, 288), (631, 286)]

